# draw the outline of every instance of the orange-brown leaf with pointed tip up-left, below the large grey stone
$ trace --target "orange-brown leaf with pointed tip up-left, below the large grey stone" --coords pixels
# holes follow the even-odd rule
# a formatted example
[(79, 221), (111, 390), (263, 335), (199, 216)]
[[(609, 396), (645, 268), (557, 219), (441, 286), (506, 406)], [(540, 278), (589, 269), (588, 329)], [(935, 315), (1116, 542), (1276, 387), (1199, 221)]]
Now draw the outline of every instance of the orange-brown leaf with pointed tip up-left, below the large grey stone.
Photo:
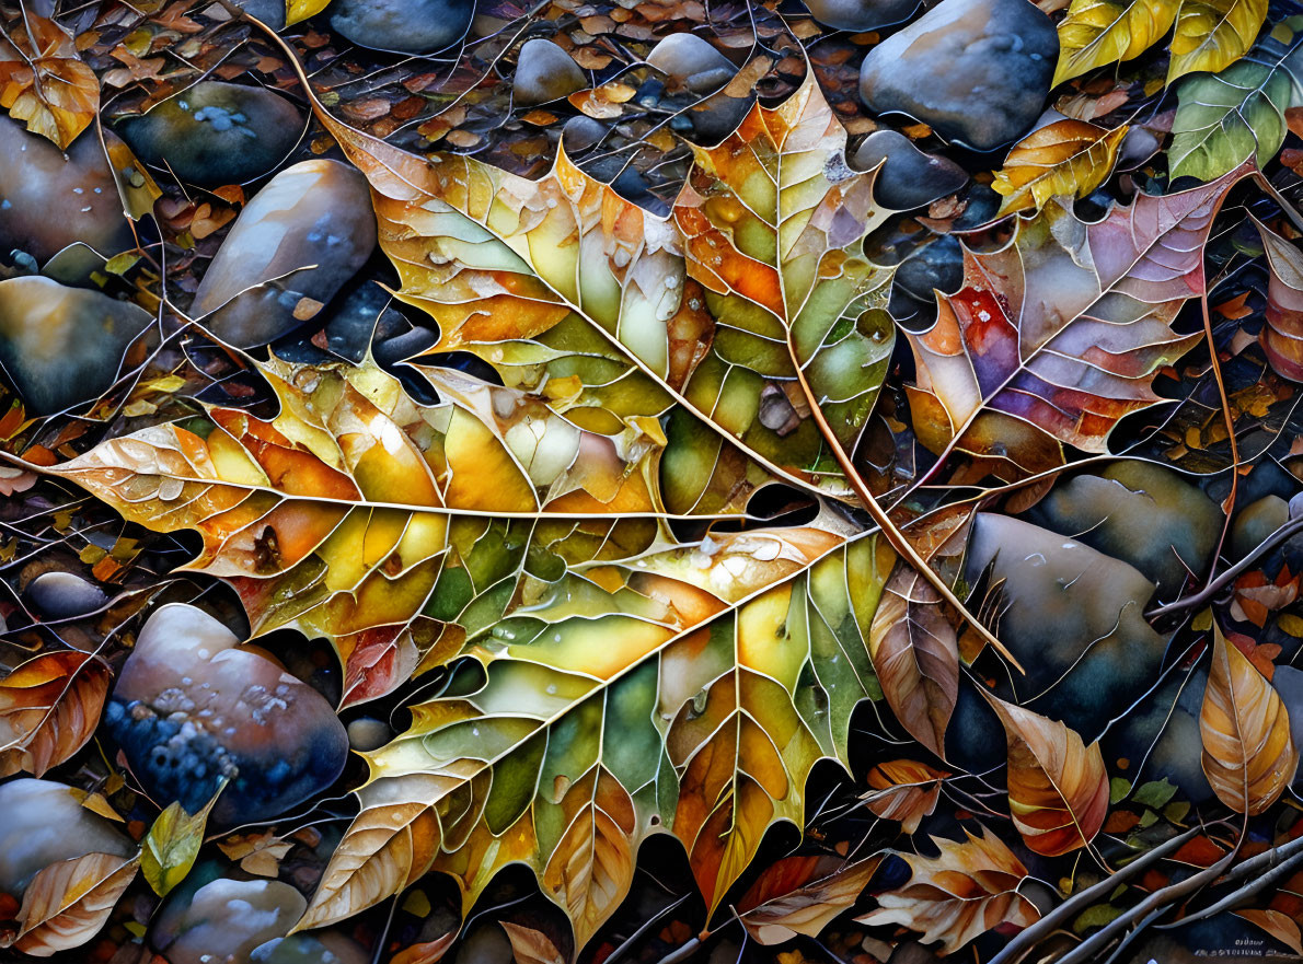
[(1046, 857), (1085, 847), (1109, 813), (1100, 744), (1087, 746), (1058, 720), (981, 693), (1009, 739), (1009, 806), (1023, 840)]

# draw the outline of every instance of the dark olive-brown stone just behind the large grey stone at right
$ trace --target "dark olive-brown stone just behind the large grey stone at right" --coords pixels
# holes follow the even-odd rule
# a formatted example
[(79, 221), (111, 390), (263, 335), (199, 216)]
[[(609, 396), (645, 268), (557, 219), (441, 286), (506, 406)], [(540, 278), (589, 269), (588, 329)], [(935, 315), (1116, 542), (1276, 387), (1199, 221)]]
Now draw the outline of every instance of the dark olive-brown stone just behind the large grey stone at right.
[(1207, 573), (1225, 517), (1171, 469), (1126, 461), (1055, 486), (1028, 520), (1131, 563), (1170, 598)]

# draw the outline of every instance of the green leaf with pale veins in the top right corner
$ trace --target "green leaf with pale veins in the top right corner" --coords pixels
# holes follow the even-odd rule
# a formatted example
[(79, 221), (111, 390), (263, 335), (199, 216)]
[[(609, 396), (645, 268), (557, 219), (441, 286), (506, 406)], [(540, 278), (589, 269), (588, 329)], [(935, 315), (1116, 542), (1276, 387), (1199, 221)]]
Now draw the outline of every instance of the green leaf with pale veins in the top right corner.
[(1169, 154), (1173, 177), (1210, 181), (1285, 143), (1285, 112), (1303, 106), (1303, 17), (1278, 23), (1237, 64), (1181, 83)]

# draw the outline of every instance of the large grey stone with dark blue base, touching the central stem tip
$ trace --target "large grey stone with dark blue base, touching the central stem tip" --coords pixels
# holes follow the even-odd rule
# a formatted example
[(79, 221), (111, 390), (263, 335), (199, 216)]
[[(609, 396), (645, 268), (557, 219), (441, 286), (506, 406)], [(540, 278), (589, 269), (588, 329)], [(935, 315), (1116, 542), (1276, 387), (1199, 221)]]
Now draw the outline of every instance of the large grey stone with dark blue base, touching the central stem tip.
[(982, 512), (966, 578), (998, 586), (999, 638), (1027, 668), (1012, 683), (1019, 702), (1087, 741), (1157, 680), (1166, 641), (1144, 620), (1154, 586), (1127, 563)]

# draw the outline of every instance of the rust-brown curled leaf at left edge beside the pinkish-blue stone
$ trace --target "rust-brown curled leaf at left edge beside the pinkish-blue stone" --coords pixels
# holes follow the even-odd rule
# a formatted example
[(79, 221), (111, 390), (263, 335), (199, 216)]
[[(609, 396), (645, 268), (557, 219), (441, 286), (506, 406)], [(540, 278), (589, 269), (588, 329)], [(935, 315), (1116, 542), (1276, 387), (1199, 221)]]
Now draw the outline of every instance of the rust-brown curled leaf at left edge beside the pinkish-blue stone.
[(40, 776), (85, 746), (111, 683), (103, 659), (74, 650), (44, 653), (0, 680), (0, 776)]

